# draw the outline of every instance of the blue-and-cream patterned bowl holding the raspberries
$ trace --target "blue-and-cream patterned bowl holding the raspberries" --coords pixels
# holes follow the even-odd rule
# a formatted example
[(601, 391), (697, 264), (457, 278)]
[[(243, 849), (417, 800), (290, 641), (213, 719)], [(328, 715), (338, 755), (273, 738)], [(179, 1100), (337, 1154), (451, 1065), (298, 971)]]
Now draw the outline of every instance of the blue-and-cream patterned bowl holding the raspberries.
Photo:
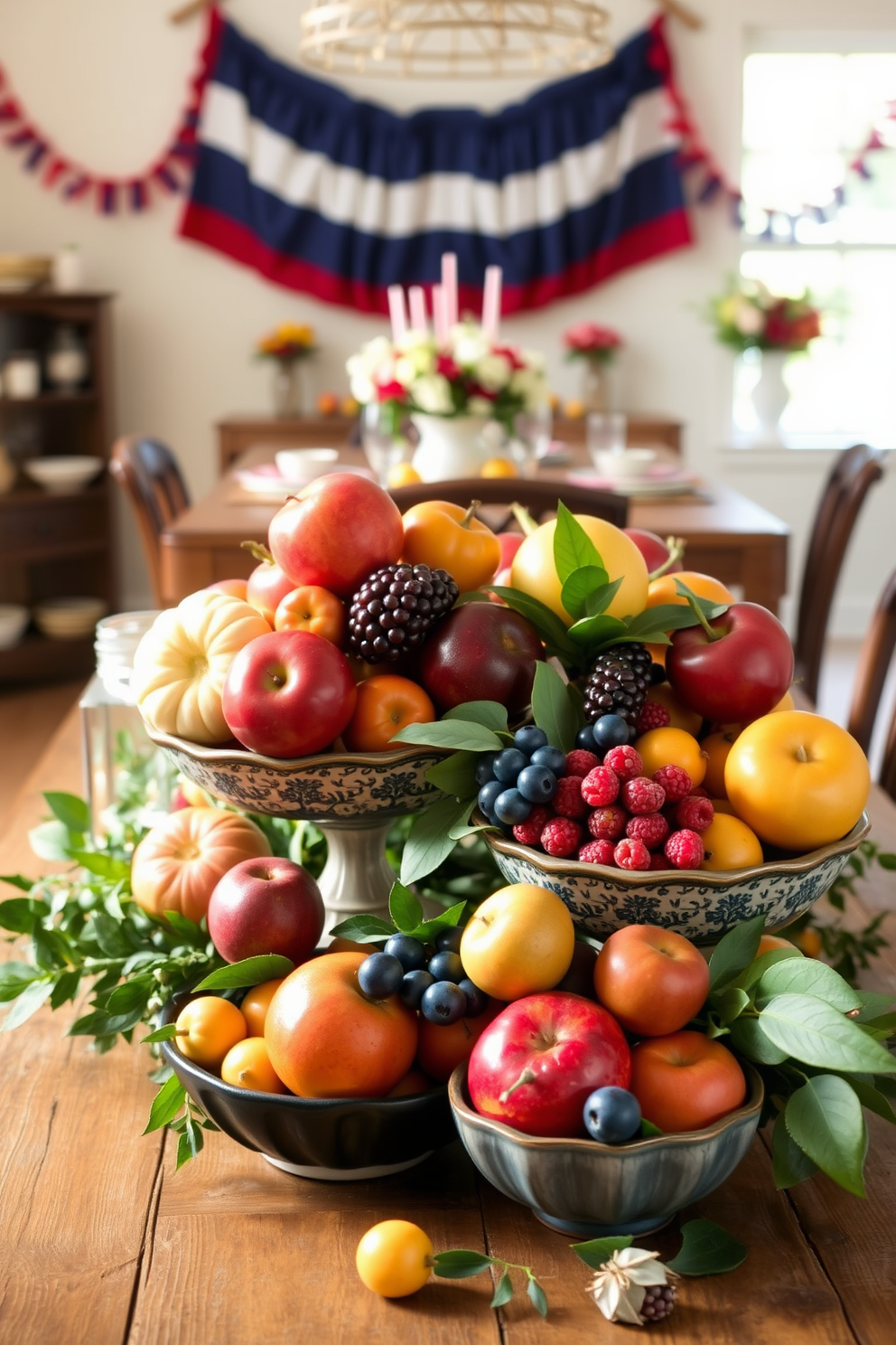
[[(485, 823), (478, 812), (474, 820)], [(609, 939), (625, 925), (654, 924), (676, 929), (692, 943), (711, 944), (758, 915), (764, 915), (770, 932), (790, 924), (827, 892), (869, 830), (868, 814), (862, 812), (852, 831), (833, 845), (727, 873), (626, 873), (600, 863), (555, 859), (494, 831), (482, 835), (508, 882), (533, 882), (556, 892), (572, 919), (598, 939)]]

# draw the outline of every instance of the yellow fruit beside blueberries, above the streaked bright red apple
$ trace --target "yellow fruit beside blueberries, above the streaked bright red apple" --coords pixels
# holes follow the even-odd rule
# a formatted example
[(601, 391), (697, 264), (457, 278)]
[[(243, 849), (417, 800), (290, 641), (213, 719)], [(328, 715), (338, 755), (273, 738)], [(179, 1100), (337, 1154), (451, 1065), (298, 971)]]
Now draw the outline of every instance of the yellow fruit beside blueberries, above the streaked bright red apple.
[(514, 882), (477, 907), (461, 937), (463, 970), (496, 999), (552, 990), (570, 970), (575, 929), (560, 898)]

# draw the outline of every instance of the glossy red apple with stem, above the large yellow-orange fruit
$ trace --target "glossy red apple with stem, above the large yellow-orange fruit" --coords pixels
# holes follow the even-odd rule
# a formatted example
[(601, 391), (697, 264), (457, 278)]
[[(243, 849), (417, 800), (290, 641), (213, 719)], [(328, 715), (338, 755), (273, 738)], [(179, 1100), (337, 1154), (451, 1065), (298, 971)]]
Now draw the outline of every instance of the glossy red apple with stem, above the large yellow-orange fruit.
[(794, 677), (790, 636), (758, 603), (732, 603), (703, 625), (676, 631), (666, 652), (676, 698), (716, 724), (750, 724), (778, 705)]

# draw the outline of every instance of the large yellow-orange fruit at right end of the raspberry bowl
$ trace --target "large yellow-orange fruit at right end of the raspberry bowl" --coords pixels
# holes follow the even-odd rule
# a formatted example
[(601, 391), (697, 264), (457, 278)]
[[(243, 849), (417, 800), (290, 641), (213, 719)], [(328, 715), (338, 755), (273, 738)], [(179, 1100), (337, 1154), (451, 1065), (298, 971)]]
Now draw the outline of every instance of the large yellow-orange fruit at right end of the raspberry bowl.
[(725, 790), (760, 841), (817, 850), (840, 841), (870, 794), (865, 753), (821, 714), (782, 710), (748, 724), (728, 753)]

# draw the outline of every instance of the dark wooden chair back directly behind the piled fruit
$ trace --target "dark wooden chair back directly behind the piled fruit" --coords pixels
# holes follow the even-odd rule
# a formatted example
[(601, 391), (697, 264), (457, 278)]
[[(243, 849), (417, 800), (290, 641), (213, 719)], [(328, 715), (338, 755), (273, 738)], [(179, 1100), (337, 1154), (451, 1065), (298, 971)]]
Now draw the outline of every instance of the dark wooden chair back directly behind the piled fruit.
[(447, 500), (449, 504), (467, 507), (480, 500), (477, 516), (482, 515), (489, 527), (500, 533), (513, 521), (510, 504), (521, 504), (536, 522), (553, 516), (557, 500), (563, 500), (574, 514), (603, 518), (617, 527), (625, 527), (629, 500), (613, 491), (592, 491), (587, 486), (567, 486), (566, 482), (531, 482), (523, 477), (470, 476), (457, 482), (433, 482), (429, 486), (396, 486), (390, 495), (404, 512), (424, 500)]

